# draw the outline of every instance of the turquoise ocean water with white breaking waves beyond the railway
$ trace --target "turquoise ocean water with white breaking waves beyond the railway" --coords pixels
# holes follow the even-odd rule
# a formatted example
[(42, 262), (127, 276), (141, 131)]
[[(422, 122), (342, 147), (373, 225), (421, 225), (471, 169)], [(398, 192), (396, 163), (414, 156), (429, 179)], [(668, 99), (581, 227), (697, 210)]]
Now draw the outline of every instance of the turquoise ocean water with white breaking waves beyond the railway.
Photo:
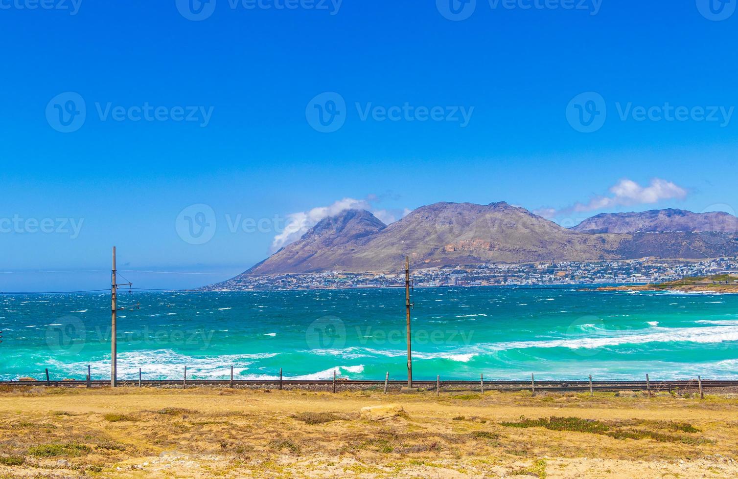
[[(417, 379), (738, 379), (738, 296), (576, 287), (413, 293)], [(120, 293), (120, 377), (403, 379), (404, 290)], [(0, 296), (0, 380), (109, 377), (106, 294)]]

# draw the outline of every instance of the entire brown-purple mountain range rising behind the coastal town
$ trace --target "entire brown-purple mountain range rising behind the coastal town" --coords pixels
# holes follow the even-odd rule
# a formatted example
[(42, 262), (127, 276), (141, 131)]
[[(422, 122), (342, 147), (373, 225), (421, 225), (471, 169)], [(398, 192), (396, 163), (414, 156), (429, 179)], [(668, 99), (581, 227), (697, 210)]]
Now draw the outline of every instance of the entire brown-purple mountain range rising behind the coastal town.
[(385, 225), (369, 211), (350, 209), (321, 220), (246, 273), (390, 271), (404, 256), (413, 268), (738, 256), (738, 217), (663, 209), (598, 214), (563, 228), (504, 202), (435, 203)]

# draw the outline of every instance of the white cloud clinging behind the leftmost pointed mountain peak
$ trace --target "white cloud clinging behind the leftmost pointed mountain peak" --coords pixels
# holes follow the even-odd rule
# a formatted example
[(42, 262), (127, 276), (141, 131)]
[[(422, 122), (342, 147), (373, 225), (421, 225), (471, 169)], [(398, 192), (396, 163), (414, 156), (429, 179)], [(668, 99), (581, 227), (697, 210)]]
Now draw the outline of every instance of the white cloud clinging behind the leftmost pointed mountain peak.
[[(287, 215), (287, 221), (284, 230), (275, 236), (272, 241), (272, 251), (277, 251), (292, 242), (303, 237), (303, 234), (312, 228), (320, 220), (335, 216), (341, 211), (347, 209), (365, 209), (379, 218), (382, 223), (389, 225), (397, 221), (396, 215), (386, 209), (374, 209), (372, 202), (378, 198), (375, 195), (369, 195), (365, 200), (356, 200), (354, 198), (343, 198), (337, 200), (330, 206), (318, 206), (309, 211), (298, 211)], [(408, 211), (407, 209), (405, 211)], [(404, 216), (402, 214), (401, 216)]]

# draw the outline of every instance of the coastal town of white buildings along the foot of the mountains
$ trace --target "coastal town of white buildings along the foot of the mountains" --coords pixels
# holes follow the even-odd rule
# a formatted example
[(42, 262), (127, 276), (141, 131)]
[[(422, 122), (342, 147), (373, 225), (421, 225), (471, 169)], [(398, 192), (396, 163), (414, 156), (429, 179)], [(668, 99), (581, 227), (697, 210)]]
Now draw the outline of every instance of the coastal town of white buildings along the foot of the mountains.
[[(738, 273), (738, 257), (702, 261), (641, 258), (604, 262), (550, 261), (413, 269), (414, 287), (484, 287), (554, 284), (652, 284), (686, 276)], [(242, 274), (204, 290), (319, 290), (404, 285), (404, 270), (373, 273), (324, 271)]]

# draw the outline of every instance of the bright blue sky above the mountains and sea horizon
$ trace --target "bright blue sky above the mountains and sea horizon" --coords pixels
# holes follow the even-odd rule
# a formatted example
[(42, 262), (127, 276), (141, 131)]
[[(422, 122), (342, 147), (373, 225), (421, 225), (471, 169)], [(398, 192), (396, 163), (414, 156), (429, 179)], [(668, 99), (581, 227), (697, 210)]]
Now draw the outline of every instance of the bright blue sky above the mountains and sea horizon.
[(0, 290), (207, 284), (344, 198), (738, 210), (735, 2), (446, 1), (0, 0)]

